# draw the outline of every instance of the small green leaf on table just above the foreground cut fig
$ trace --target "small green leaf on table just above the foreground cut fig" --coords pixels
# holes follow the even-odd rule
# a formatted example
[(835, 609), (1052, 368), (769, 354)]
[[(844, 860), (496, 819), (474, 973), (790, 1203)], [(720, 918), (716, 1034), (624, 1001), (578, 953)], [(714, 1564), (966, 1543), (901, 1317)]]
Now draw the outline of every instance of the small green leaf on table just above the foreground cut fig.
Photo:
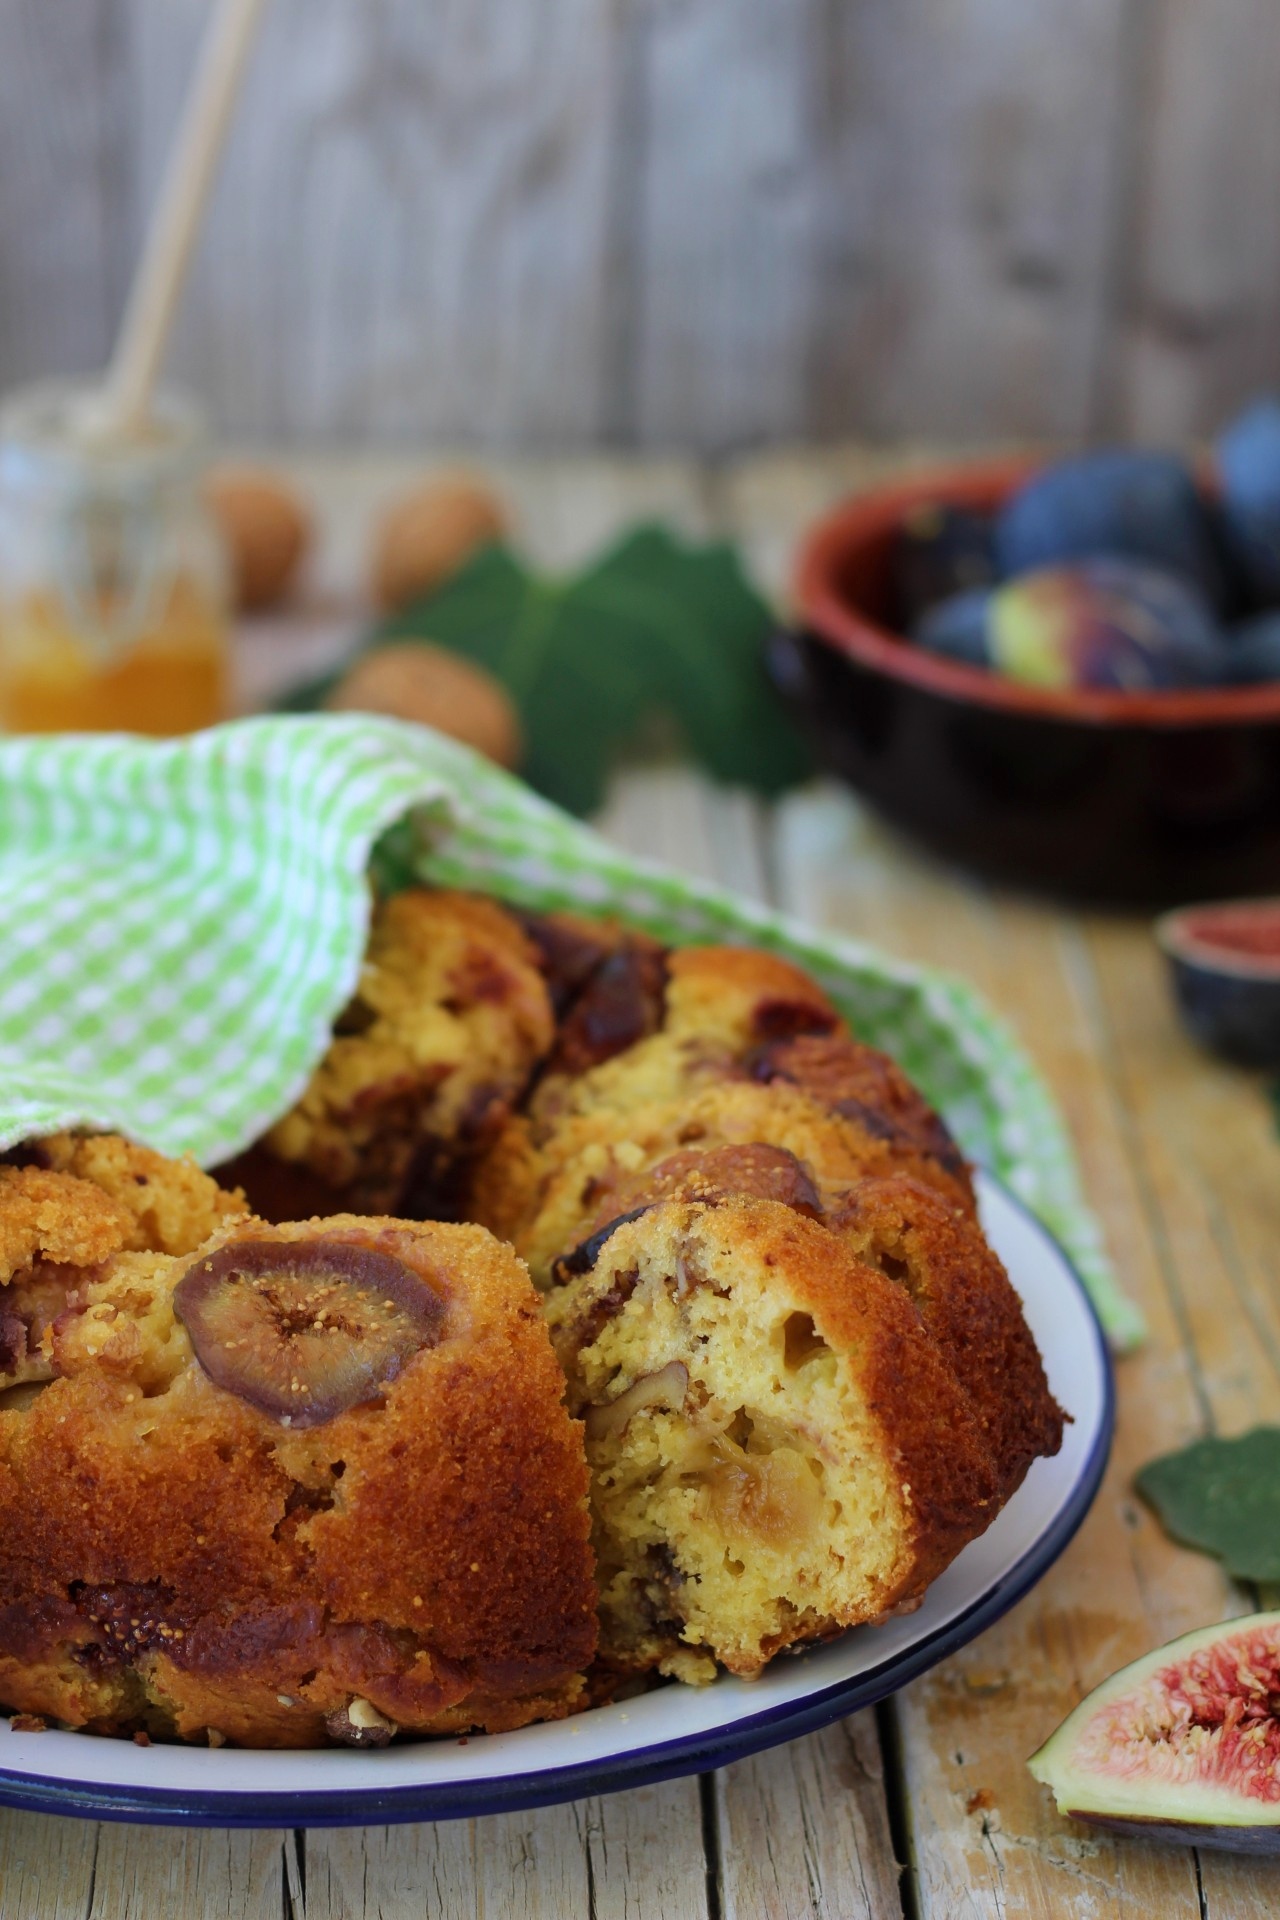
[(1280, 1427), (1196, 1440), (1148, 1461), (1134, 1486), (1174, 1540), (1236, 1580), (1280, 1582)]

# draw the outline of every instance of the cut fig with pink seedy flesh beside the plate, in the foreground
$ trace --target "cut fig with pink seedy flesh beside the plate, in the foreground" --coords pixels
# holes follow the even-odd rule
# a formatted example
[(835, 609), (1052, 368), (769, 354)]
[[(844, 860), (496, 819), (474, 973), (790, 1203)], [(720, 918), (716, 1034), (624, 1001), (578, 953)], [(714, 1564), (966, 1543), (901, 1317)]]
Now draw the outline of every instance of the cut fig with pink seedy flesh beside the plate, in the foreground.
[(1280, 1853), (1280, 1613), (1201, 1626), (1111, 1674), (1029, 1766), (1073, 1820)]

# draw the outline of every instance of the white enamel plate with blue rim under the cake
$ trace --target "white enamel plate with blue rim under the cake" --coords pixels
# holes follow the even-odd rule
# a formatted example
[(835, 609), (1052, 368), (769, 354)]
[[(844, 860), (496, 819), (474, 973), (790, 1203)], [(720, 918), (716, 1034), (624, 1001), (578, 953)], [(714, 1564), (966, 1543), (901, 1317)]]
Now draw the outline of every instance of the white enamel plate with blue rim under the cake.
[(1098, 1492), (1111, 1444), (1111, 1365), (1080, 1281), (1006, 1188), (981, 1175), (979, 1196), (1071, 1425), (1057, 1457), (1032, 1465), (917, 1613), (783, 1655), (750, 1684), (662, 1686), (572, 1720), (464, 1741), (209, 1751), (15, 1734), (0, 1718), (0, 1803), (190, 1826), (365, 1826), (510, 1812), (723, 1766), (892, 1693), (990, 1626), (1057, 1559)]

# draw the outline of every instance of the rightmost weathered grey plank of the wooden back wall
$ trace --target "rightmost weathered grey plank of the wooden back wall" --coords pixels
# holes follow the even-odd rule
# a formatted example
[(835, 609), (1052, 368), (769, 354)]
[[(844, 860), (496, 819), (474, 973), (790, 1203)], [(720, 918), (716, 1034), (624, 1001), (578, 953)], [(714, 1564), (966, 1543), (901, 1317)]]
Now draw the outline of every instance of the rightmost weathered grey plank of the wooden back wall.
[(1132, 194), (1100, 428), (1213, 432), (1280, 378), (1280, 13), (1155, 0), (1128, 115)]

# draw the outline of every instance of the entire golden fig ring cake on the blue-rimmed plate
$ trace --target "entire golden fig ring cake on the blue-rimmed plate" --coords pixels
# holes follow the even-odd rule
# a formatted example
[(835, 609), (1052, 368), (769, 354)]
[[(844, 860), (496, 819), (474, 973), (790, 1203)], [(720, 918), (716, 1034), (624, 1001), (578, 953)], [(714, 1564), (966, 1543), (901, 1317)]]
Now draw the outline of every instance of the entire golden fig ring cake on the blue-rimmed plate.
[(8, 1158), (0, 1699), (71, 1726), (756, 1674), (917, 1605), (1061, 1442), (946, 1125), (773, 954), (409, 889), (248, 1202)]

